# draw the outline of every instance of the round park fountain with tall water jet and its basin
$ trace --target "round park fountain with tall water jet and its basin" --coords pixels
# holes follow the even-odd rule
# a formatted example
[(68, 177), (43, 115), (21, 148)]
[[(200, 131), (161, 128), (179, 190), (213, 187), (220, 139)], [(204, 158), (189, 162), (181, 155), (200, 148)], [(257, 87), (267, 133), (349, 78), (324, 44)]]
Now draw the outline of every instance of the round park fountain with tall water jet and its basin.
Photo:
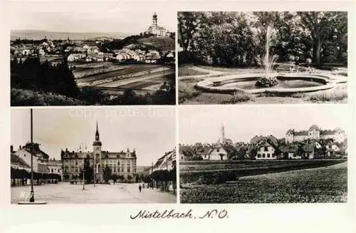
[(209, 77), (196, 84), (196, 88), (209, 93), (273, 93), (289, 95), (293, 93), (305, 93), (318, 90), (335, 88), (337, 81), (330, 76), (316, 73), (276, 73), (273, 65), (278, 56), (269, 57), (270, 32), (268, 26), (266, 31), (266, 54), (263, 61), (264, 73), (239, 73), (226, 76)]

